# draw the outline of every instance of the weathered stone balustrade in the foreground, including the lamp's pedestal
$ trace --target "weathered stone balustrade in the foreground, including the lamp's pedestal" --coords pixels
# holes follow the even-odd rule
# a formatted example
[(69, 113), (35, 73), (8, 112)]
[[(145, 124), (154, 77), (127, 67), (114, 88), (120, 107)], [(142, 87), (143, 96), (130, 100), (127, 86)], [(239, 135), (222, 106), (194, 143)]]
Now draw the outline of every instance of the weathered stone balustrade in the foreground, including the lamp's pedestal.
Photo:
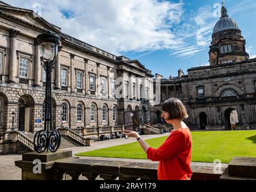
[[(32, 172), (34, 160), (41, 161), (41, 174)], [(245, 163), (243, 163), (245, 162)], [(98, 176), (105, 180), (155, 180), (157, 179), (157, 162), (139, 163), (121, 160), (99, 160), (94, 158), (72, 157), (72, 151), (44, 152), (37, 154), (29, 152), (22, 155), (22, 160), (15, 161), (17, 167), (22, 169), (22, 179), (81, 179), (94, 180)], [(218, 171), (214, 166), (204, 163), (191, 165), (192, 180), (218, 180), (234, 179), (234, 176), (243, 176), (244, 179), (256, 179), (256, 158), (234, 158), (227, 166)], [(251, 176), (252, 178), (245, 178)]]

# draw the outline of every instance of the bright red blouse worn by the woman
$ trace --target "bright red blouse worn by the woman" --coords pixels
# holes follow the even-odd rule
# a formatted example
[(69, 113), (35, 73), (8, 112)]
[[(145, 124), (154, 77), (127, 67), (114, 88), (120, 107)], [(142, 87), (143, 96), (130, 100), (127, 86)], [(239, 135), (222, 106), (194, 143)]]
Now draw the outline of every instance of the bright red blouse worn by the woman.
[(158, 149), (148, 148), (147, 158), (159, 161), (157, 176), (159, 180), (190, 180), (192, 137), (189, 128), (179, 128)]

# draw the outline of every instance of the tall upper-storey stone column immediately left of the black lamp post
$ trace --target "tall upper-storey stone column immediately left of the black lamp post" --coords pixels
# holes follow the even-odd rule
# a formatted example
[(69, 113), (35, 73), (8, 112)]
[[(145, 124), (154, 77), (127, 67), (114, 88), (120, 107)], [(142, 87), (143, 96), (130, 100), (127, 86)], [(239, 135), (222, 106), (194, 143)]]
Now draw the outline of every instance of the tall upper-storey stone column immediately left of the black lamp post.
[(41, 75), (43, 67), (41, 66), (41, 53), (38, 43), (35, 43), (35, 72), (34, 72), (34, 86), (41, 86)]

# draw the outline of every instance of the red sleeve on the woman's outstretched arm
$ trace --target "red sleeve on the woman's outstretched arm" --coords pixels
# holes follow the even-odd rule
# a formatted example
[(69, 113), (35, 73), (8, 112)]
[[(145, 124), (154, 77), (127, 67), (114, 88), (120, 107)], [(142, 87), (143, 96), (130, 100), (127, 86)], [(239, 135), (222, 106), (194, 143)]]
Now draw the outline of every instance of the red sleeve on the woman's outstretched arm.
[(148, 148), (147, 158), (152, 161), (163, 161), (178, 154), (185, 143), (185, 136), (182, 131), (175, 131), (171, 134), (158, 149)]

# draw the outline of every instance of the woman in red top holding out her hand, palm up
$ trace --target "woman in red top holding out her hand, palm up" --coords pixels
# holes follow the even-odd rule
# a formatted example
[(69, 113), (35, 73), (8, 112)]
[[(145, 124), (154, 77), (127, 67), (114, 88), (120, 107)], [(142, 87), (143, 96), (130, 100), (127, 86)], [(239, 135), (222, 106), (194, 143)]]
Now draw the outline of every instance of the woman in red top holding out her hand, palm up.
[(125, 130), (124, 134), (135, 137), (147, 158), (159, 161), (157, 176), (159, 180), (190, 180), (192, 155), (192, 137), (183, 119), (187, 118), (184, 105), (177, 98), (170, 98), (162, 104), (162, 117), (174, 129), (170, 136), (157, 148), (151, 148), (135, 131)]

